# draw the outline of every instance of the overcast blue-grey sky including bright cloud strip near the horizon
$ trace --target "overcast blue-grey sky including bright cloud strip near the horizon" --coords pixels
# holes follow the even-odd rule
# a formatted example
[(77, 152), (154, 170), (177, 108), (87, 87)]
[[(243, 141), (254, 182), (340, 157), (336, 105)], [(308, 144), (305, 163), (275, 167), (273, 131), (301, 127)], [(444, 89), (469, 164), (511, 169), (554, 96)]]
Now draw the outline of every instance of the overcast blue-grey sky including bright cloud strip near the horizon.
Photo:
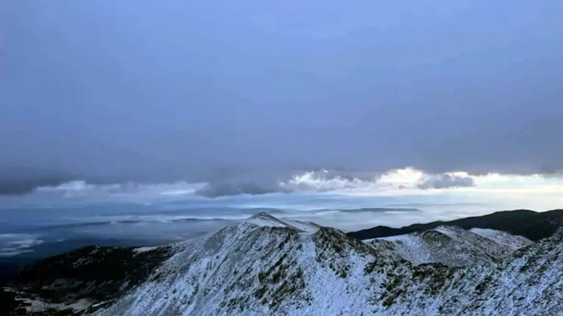
[(0, 1), (0, 202), (558, 206), (561, 16), (541, 0)]

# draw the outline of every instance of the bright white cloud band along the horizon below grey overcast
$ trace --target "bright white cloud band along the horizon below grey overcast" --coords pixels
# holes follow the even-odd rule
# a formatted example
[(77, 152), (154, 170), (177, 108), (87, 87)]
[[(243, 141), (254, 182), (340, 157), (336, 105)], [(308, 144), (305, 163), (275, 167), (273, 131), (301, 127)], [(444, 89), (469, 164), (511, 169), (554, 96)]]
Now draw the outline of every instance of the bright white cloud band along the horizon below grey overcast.
[[(183, 197), (226, 197), (270, 193), (331, 194), (351, 196), (436, 195), (443, 192), (480, 193), (563, 193), (562, 174), (514, 175), (502, 173), (470, 174), (465, 171), (427, 173), (414, 167), (391, 169), (384, 173), (360, 176), (341, 171), (317, 169), (286, 176), (285, 180), (265, 176), (233, 177), (228, 181), (190, 183), (91, 183), (72, 180), (56, 185), (27, 189), (27, 195), (70, 199), (121, 199), (144, 202)], [(23, 193), (22, 193), (23, 194)], [(27, 196), (26, 195), (26, 196)]]

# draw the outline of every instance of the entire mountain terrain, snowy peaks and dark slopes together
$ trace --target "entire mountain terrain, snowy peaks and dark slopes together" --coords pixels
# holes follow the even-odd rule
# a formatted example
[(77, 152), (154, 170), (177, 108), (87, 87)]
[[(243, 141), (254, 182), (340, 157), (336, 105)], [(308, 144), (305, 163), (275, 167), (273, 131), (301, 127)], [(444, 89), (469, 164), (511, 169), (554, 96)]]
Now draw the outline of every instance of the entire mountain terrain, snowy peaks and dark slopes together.
[[(562, 315), (563, 228), (551, 230), (561, 211), (545, 214), (360, 241), (259, 213), (189, 242), (35, 263), (0, 291), (0, 315)], [(542, 228), (531, 236), (549, 236), (506, 232), (527, 216)]]

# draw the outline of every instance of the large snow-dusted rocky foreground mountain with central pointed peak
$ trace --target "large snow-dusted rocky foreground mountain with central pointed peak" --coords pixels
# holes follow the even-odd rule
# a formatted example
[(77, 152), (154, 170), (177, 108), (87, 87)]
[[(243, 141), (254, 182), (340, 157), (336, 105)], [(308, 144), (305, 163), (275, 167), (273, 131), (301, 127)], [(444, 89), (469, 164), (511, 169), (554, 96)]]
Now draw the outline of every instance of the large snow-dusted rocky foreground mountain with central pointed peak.
[(397, 260), (333, 228), (308, 232), (265, 217), (172, 256), (95, 315), (563, 314), (562, 229), (500, 263), (449, 267)]

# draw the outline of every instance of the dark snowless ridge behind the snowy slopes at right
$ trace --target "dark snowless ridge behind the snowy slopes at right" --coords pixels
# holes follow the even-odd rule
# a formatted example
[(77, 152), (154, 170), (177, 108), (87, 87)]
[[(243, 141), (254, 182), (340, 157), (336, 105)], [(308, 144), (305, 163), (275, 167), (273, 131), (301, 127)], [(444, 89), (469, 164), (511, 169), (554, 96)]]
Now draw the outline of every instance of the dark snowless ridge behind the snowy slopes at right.
[(538, 241), (549, 237), (563, 225), (563, 209), (535, 212), (529, 210), (499, 211), (483, 216), (460, 218), (457, 220), (438, 220), (426, 224), (412, 224), (402, 228), (377, 226), (357, 232), (348, 232), (348, 236), (358, 239), (372, 239), (410, 234), (423, 230), (431, 230), (441, 225), (456, 226), (469, 230), (471, 228), (488, 228), (508, 232)]

